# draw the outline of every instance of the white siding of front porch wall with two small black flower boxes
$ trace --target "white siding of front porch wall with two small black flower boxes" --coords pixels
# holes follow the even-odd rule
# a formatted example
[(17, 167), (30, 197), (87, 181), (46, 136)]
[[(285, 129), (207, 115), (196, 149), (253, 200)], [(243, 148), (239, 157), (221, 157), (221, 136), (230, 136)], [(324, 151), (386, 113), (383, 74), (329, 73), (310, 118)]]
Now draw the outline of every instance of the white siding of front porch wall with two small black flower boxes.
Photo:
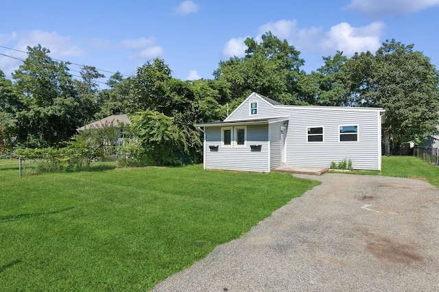
[[(233, 147), (221, 146), (221, 127), (206, 127), (204, 132), (206, 137), (204, 143), (205, 169), (270, 171), (268, 125), (246, 126), (246, 145), (234, 145)], [(219, 147), (210, 149), (209, 145), (219, 145)], [(250, 145), (261, 145), (261, 149), (254, 151)]]

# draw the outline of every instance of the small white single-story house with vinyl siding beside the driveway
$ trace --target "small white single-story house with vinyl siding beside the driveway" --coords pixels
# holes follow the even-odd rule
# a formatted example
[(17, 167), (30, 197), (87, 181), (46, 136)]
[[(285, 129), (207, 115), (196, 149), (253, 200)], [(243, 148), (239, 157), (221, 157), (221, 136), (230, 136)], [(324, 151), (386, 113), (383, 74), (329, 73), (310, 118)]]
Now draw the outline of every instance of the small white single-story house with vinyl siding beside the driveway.
[(285, 106), (252, 93), (224, 121), (200, 123), (204, 169), (268, 172), (283, 165), (381, 170), (382, 108)]

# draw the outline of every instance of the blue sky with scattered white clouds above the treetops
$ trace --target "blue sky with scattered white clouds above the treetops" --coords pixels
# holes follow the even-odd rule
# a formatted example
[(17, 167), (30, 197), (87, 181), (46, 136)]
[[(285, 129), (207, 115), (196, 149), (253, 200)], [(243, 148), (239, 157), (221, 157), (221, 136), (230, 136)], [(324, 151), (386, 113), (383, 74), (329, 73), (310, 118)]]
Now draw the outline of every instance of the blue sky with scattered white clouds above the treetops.
[[(392, 38), (439, 68), (439, 0), (4, 0), (0, 19), (1, 54), (25, 58), (20, 51), (40, 44), (52, 58), (124, 75), (158, 57), (173, 77), (212, 79), (219, 61), (244, 56), (246, 37), (268, 30), (301, 52), (308, 73), (322, 56), (375, 52)], [(20, 64), (0, 55), (7, 77)]]

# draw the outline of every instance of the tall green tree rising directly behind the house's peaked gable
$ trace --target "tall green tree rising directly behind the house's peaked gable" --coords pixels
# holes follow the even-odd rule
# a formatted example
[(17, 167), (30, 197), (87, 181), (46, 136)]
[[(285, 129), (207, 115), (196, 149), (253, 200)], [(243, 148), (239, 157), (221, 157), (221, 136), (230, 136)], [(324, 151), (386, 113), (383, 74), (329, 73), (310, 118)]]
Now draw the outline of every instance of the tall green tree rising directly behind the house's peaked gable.
[(303, 104), (298, 98), (297, 85), (300, 66), (305, 62), (299, 58), (300, 52), (271, 32), (261, 38), (259, 44), (253, 38), (244, 41), (248, 47), (244, 58), (219, 62), (213, 73), (215, 80), (227, 84), (233, 99), (256, 91), (283, 104)]

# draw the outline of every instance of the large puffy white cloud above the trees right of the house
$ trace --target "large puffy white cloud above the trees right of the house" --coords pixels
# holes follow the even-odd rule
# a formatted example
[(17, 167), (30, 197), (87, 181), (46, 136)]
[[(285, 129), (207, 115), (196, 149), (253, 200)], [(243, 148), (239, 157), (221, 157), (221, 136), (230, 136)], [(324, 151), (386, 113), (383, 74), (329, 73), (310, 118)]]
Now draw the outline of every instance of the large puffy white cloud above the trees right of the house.
[(384, 23), (376, 21), (364, 27), (352, 27), (349, 23), (340, 23), (331, 27), (320, 40), (322, 51), (343, 51), (345, 56), (355, 52), (375, 52), (381, 45), (380, 36)]

